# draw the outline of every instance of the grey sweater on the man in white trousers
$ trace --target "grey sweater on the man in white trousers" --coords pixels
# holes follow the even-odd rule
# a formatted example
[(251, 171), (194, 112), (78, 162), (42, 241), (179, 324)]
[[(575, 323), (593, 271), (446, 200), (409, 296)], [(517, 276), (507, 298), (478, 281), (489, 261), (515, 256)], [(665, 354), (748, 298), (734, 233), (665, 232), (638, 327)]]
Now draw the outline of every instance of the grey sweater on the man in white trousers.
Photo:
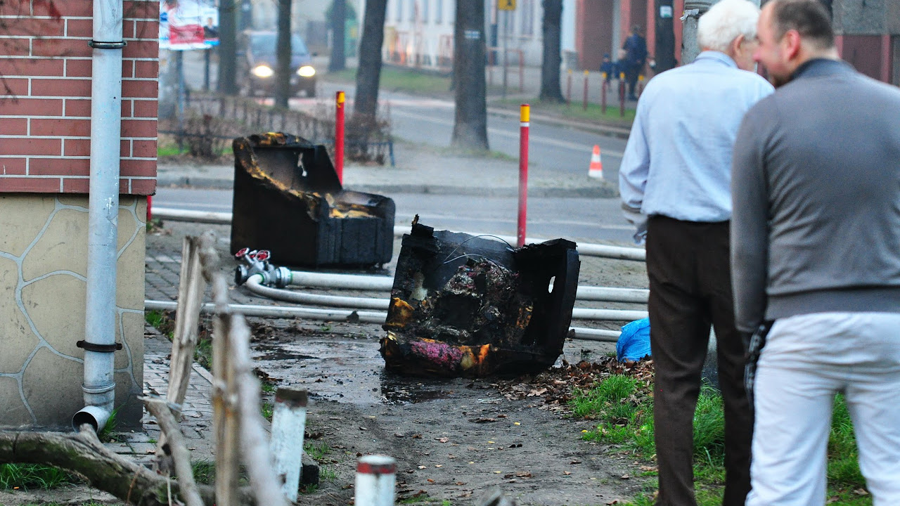
[(738, 330), (900, 312), (900, 90), (808, 61), (744, 116), (732, 171)]

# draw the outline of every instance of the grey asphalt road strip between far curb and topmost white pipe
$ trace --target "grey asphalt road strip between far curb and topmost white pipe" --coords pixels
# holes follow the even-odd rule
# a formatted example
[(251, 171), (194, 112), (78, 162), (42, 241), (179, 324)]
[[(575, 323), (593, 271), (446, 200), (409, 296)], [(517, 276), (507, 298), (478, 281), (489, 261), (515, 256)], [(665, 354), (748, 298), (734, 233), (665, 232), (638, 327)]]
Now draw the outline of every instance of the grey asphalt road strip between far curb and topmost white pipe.
[[(518, 199), (468, 195), (390, 194), (397, 206), (395, 224), (406, 225), (413, 216), (428, 226), (498, 235), (516, 235)], [(230, 212), (231, 191), (193, 188), (157, 188), (153, 204), (197, 211)], [(541, 239), (564, 238), (576, 242), (616, 241), (632, 245), (632, 230), (623, 224), (617, 199), (528, 199), (527, 233)]]

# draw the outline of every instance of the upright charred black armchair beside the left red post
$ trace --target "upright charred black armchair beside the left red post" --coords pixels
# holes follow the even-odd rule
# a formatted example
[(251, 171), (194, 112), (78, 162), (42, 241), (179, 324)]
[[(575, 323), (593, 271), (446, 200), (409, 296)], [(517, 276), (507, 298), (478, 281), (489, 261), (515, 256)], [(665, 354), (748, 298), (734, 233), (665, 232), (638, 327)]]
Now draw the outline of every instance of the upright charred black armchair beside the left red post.
[(232, 145), (232, 253), (269, 249), (288, 266), (391, 261), (392, 199), (344, 190), (324, 146), (274, 132)]

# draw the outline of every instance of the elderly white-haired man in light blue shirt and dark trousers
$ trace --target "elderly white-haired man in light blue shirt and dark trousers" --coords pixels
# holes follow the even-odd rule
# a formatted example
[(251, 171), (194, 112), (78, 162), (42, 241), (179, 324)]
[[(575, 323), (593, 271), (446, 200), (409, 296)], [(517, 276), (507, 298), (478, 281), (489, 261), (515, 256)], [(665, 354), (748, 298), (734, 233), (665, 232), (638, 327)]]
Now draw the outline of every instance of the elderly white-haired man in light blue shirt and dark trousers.
[(772, 86), (752, 72), (760, 10), (722, 0), (698, 23), (693, 63), (647, 84), (619, 169), (626, 218), (645, 230), (659, 506), (695, 506), (693, 417), (716, 330), (725, 401), (725, 506), (750, 490), (752, 410), (734, 328), (731, 159), (743, 114)]

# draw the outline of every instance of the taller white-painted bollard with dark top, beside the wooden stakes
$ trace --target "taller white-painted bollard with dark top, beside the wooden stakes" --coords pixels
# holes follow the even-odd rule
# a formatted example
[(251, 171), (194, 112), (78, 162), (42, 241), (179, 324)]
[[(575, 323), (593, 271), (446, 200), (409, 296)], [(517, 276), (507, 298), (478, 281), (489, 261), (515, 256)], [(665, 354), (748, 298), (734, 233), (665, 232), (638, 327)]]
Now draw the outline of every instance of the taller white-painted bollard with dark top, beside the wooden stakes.
[(279, 388), (272, 411), (272, 453), (275, 473), (289, 501), (297, 501), (303, 458), (303, 431), (306, 429), (305, 390)]

